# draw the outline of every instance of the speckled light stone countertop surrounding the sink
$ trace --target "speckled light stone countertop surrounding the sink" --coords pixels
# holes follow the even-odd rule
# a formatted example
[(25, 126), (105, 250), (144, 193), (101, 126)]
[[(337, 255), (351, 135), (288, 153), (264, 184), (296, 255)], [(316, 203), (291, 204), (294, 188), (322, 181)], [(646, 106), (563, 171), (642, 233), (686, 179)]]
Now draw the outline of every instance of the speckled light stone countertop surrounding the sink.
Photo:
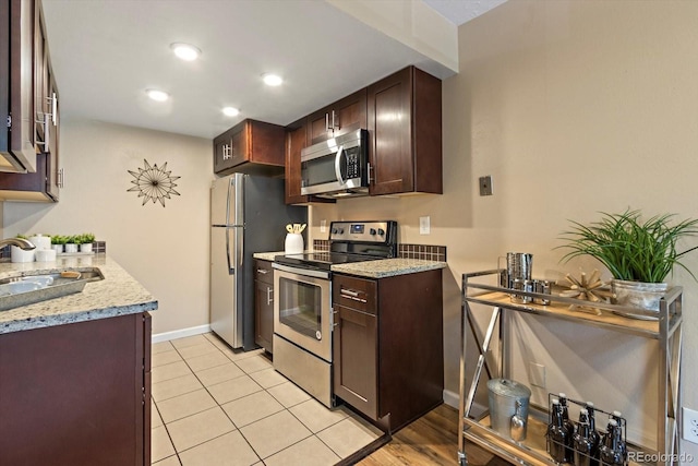
[(99, 268), (105, 278), (87, 283), (81, 292), (0, 311), (0, 334), (157, 309), (157, 300), (117, 262), (103, 254), (65, 256), (56, 262), (2, 262), (0, 279), (89, 267)]

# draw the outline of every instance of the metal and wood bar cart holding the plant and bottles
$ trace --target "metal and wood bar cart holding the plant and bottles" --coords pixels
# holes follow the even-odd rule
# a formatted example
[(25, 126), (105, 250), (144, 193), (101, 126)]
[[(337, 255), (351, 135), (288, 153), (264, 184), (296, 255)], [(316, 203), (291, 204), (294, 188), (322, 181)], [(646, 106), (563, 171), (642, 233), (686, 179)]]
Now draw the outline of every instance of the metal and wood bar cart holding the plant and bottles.
[[(531, 405), (529, 407), (529, 420), (527, 438), (522, 442), (516, 442), (494, 431), (490, 425), (489, 413), (479, 417), (472, 414), (476, 390), (483, 369), (486, 375), (510, 378), (507, 343), (512, 333), (508, 332), (508, 319), (516, 313), (534, 314), (543, 318), (558, 319), (574, 322), (580, 325), (591, 325), (614, 332), (622, 332), (637, 337), (657, 339), (659, 342), (659, 387), (658, 387), (658, 421), (657, 421), (657, 449), (642, 445), (628, 444), (628, 451), (635, 453), (634, 457), (651, 458), (658, 465), (677, 463), (678, 451), (678, 423), (677, 416), (681, 406), (679, 368), (681, 368), (681, 342), (682, 342), (682, 303), (683, 288), (670, 288), (660, 300), (659, 313), (627, 308), (616, 304), (581, 301), (574, 298), (558, 296), (556, 290), (552, 295), (541, 295), (516, 290), (516, 295), (524, 296), (533, 301), (549, 299), (550, 303), (512, 302), (510, 295), (514, 290), (500, 286), (474, 283), (473, 279), (488, 278), (498, 282), (502, 270), (491, 270), (462, 274), (462, 312), (461, 312), (461, 354), (460, 354), (460, 403), (458, 428), (458, 462), (460, 466), (468, 464), (465, 451), (465, 441), (469, 440), (491, 453), (510, 462), (526, 465), (556, 465), (557, 463), (547, 454), (545, 445), (545, 432), (547, 429), (547, 409)], [(529, 300), (527, 299), (527, 300)], [(482, 304), (490, 308), (491, 315), (488, 328), (482, 338), (474, 330), (473, 309), (471, 304)], [(570, 306), (593, 307), (601, 311), (601, 315), (594, 313), (570, 310)], [(486, 309), (485, 308), (485, 309)], [(482, 307), (478, 307), (478, 312)], [(630, 318), (628, 315), (635, 316)], [(654, 319), (637, 319), (653, 315)], [(657, 315), (659, 318), (657, 318)], [(501, 348), (497, 351), (496, 367), (491, 367), (485, 355), (494, 335), (498, 335)], [(466, 347), (468, 338), (474, 338), (478, 347), (478, 361), (470, 383), (466, 381)], [(639, 454), (641, 453), (641, 455)], [(630, 456), (630, 455), (629, 455)], [(631, 464), (635, 462), (631, 462)]]

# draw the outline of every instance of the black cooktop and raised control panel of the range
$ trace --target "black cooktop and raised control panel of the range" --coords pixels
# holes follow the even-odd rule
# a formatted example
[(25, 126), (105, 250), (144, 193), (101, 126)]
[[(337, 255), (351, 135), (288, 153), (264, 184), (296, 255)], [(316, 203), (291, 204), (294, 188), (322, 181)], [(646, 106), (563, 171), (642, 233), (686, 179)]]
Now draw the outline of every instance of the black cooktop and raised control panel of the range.
[(333, 222), (329, 227), (329, 251), (277, 255), (274, 262), (303, 268), (329, 271), (335, 264), (395, 258), (397, 223)]

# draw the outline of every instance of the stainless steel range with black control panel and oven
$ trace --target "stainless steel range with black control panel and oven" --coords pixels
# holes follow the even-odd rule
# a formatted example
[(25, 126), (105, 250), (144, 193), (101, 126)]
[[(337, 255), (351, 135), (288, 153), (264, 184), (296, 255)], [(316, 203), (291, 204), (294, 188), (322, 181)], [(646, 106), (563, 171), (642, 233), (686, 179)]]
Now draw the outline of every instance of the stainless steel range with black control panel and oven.
[(326, 406), (332, 390), (332, 266), (397, 255), (397, 223), (333, 222), (329, 251), (274, 259), (274, 368)]

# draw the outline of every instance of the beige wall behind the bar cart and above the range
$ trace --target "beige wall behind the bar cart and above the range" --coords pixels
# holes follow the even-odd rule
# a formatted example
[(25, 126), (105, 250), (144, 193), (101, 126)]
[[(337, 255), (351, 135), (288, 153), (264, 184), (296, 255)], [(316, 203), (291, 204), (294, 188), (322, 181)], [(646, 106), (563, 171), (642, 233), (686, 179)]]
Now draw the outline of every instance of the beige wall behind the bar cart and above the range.
[[(599, 211), (698, 217), (697, 25), (693, 1), (508, 1), (459, 29), (460, 73), (444, 81), (444, 194), (313, 208), (316, 237), (323, 218), (392, 217), (402, 242), (448, 247), (447, 390), (458, 387), (464, 272), (515, 250), (534, 254), (537, 277), (591, 271), (591, 261), (558, 263), (554, 248), (568, 218), (591, 222)], [(484, 175), (493, 196), (478, 195)], [(430, 236), (419, 235), (422, 215)], [(687, 265), (698, 273), (698, 253)], [(686, 288), (684, 353), (696, 355), (698, 284), (682, 272), (673, 280)], [(547, 390), (619, 409), (630, 434), (651, 441), (653, 343), (531, 319), (516, 332), (516, 378), (528, 380), (528, 361), (543, 363)], [(694, 359), (684, 360), (683, 405), (696, 409)], [(696, 445), (683, 446), (698, 457)]]

